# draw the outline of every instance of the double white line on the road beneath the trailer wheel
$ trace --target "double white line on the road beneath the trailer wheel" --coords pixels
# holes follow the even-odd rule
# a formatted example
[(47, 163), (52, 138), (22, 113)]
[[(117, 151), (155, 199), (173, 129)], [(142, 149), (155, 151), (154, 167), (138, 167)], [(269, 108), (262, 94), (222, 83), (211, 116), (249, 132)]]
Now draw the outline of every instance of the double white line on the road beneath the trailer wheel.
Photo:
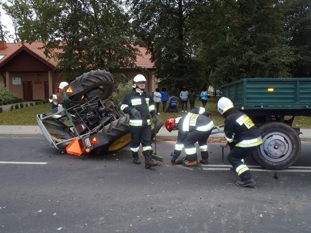
[[(203, 170), (210, 171), (228, 171), (231, 165), (201, 165)], [(284, 170), (267, 170), (261, 166), (248, 166), (251, 171), (272, 171), (272, 172), (311, 172), (311, 166), (290, 166)]]

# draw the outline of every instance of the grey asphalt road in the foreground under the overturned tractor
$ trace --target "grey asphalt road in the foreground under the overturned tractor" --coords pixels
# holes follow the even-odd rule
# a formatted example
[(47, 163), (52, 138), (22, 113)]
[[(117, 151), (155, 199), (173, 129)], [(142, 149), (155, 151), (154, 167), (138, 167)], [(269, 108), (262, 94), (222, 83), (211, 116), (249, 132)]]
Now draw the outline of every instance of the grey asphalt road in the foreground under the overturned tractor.
[(78, 157), (45, 139), (0, 145), (1, 233), (311, 232), (311, 143), (292, 170), (247, 159), (256, 188), (235, 185), (219, 144), (208, 145), (210, 165), (187, 168), (170, 164), (174, 142), (157, 142), (164, 162), (153, 169), (133, 164), (129, 148)]

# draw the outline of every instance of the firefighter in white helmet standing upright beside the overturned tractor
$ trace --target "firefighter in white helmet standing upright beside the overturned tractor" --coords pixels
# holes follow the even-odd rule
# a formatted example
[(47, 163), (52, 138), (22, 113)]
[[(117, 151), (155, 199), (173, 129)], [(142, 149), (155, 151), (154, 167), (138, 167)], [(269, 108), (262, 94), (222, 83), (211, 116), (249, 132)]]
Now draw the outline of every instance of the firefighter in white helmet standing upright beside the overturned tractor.
[(121, 100), (121, 111), (130, 115), (129, 126), (131, 130), (130, 149), (134, 164), (140, 164), (138, 159), (139, 145), (145, 158), (145, 167), (157, 166), (152, 161), (151, 121), (157, 121), (155, 105), (152, 96), (145, 91), (146, 78), (138, 74), (133, 79), (133, 90)]

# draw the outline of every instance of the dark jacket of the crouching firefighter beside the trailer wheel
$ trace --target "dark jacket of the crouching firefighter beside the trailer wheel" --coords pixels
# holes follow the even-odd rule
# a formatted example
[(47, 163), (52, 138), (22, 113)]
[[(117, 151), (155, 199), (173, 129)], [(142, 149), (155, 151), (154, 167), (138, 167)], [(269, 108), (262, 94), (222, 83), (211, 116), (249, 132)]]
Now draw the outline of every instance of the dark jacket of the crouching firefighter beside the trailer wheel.
[(254, 122), (236, 108), (230, 108), (225, 115), (225, 139), (230, 146), (255, 147), (262, 144)]

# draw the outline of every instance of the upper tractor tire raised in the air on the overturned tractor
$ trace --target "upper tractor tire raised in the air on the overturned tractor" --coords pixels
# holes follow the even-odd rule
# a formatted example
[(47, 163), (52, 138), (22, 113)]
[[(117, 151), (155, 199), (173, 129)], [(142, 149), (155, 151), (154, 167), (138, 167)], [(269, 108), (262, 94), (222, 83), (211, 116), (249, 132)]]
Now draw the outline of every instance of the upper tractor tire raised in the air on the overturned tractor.
[(116, 90), (116, 80), (105, 70), (92, 70), (77, 77), (83, 91), (70, 97), (72, 101), (89, 101), (98, 96), (96, 100), (108, 99)]

